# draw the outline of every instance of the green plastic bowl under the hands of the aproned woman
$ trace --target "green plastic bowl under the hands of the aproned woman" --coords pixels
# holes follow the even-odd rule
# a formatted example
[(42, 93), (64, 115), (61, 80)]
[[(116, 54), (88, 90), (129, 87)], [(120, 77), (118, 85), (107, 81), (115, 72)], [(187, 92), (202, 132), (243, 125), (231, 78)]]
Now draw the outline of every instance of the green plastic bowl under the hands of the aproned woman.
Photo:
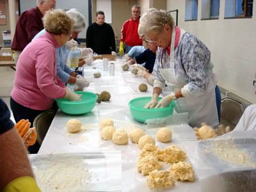
[[(160, 100), (159, 97), (158, 100)], [(132, 117), (137, 120), (138, 122), (144, 123), (145, 120), (151, 118), (161, 118), (164, 116), (172, 115), (173, 108), (175, 106), (174, 101), (170, 103), (170, 106), (165, 108), (153, 108), (153, 109), (144, 109), (144, 106), (150, 102), (151, 97), (138, 97), (135, 99), (130, 100), (129, 108), (132, 114)]]

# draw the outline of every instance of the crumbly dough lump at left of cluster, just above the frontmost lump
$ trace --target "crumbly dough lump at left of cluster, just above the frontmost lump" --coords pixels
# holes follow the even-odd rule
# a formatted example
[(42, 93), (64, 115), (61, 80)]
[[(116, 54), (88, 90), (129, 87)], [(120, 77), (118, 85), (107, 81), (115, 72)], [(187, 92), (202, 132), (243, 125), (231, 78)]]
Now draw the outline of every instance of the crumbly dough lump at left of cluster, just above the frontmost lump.
[(138, 172), (142, 173), (142, 175), (148, 175), (148, 173), (161, 167), (163, 167), (163, 164), (154, 156), (145, 156), (137, 164)]

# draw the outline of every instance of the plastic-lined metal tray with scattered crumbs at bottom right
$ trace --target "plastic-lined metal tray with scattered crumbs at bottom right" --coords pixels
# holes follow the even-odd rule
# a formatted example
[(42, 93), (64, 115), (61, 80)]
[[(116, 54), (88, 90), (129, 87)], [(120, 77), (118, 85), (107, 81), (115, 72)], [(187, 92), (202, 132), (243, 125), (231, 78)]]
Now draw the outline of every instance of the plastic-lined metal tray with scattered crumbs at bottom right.
[[(214, 139), (184, 143), (184, 148), (200, 179), (200, 190), (210, 192), (255, 191), (255, 138), (256, 131), (232, 131)], [(228, 144), (228, 140), (231, 140), (232, 146)], [(216, 143), (220, 145), (216, 145)], [(226, 149), (225, 145), (227, 145)], [(224, 148), (216, 148), (216, 146)], [(222, 151), (224, 155), (216, 154), (214, 148)], [(248, 157), (251, 157), (250, 166), (248, 166), (248, 161), (241, 161), (237, 164), (236, 162), (239, 162), (237, 159), (230, 163), (230, 160), (225, 157), (230, 156), (228, 150), (232, 150), (232, 148), (237, 148), (234, 150), (237, 151), (234, 152), (234, 157), (237, 159), (243, 157), (243, 152), (246, 152)]]

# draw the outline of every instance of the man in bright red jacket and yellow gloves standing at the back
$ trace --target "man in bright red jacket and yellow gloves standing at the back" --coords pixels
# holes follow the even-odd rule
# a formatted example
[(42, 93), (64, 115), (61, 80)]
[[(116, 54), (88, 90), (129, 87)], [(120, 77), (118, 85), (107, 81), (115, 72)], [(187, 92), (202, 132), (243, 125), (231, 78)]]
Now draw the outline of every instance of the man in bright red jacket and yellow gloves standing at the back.
[(132, 18), (125, 20), (120, 38), (119, 54), (124, 54), (124, 43), (125, 53), (128, 53), (130, 49), (135, 45), (142, 45), (142, 38), (138, 35), (138, 27), (140, 24), (140, 6), (132, 6)]

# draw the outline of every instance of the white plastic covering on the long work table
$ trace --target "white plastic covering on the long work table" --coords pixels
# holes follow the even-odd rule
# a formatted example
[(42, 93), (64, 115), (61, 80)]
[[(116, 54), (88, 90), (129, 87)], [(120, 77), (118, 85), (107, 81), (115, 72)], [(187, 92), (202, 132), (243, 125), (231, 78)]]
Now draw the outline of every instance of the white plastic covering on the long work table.
[[(104, 141), (100, 138), (99, 122), (103, 118), (111, 118), (115, 128), (124, 128), (127, 132), (138, 125), (144, 129), (146, 134), (154, 136), (156, 139), (157, 129), (148, 129), (147, 125), (136, 122), (129, 111), (128, 102), (136, 97), (152, 95), (152, 86), (142, 77), (135, 77), (131, 70), (122, 71), (121, 60), (115, 61), (115, 76), (109, 76), (108, 71), (102, 70), (102, 62), (84, 67), (84, 77), (90, 81), (90, 86), (85, 91), (100, 93), (108, 91), (111, 93), (109, 102), (96, 104), (90, 113), (84, 115), (66, 115), (58, 111), (51, 127), (47, 132), (39, 154), (55, 154), (67, 152), (88, 152), (93, 150), (120, 150), (122, 154), (122, 191), (154, 191), (147, 186), (147, 177), (142, 176), (137, 171), (138, 154), (140, 149), (136, 144), (115, 145), (111, 140)], [(93, 73), (100, 71), (102, 77), (94, 78)], [(148, 84), (147, 92), (140, 92), (140, 83)], [(174, 114), (175, 115), (175, 114)], [(76, 134), (66, 131), (65, 125), (70, 118), (81, 120), (83, 129)], [(215, 173), (214, 168), (204, 164), (198, 157), (198, 141), (195, 138), (193, 129), (186, 120), (175, 125), (170, 125), (173, 132), (173, 140), (170, 143), (159, 143), (156, 145), (163, 149), (168, 145), (177, 144), (188, 154), (187, 161), (193, 164), (195, 169), (195, 182), (175, 182), (175, 187), (164, 191), (201, 191), (200, 180), (209, 173)], [(165, 165), (164, 168), (169, 168)], [(157, 191), (157, 190), (156, 190)], [(161, 191), (161, 190), (160, 190)]]

